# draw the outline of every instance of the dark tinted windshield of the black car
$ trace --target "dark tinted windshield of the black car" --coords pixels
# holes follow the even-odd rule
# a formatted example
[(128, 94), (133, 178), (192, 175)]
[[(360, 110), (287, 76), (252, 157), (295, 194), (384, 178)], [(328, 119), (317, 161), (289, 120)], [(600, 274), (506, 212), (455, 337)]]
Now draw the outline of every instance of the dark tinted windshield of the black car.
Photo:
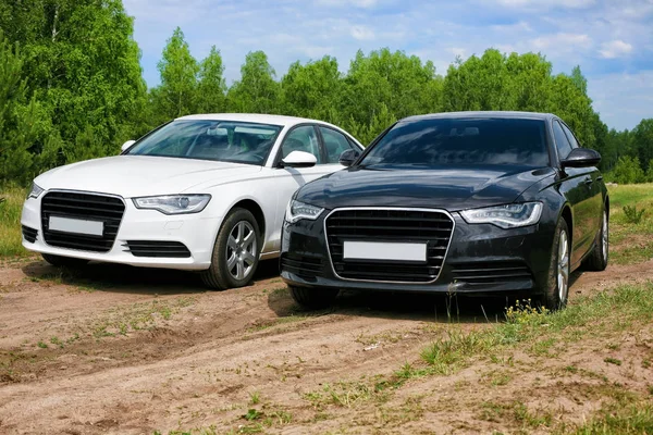
[(541, 120), (486, 117), (403, 122), (387, 132), (359, 164), (545, 166), (545, 124)]

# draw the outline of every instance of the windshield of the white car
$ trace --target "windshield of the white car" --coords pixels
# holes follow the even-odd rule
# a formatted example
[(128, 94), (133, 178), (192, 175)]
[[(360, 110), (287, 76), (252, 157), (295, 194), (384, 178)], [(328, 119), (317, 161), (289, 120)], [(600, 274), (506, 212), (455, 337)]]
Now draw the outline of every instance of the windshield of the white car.
[(263, 165), (281, 128), (235, 121), (174, 121), (143, 138), (126, 154)]

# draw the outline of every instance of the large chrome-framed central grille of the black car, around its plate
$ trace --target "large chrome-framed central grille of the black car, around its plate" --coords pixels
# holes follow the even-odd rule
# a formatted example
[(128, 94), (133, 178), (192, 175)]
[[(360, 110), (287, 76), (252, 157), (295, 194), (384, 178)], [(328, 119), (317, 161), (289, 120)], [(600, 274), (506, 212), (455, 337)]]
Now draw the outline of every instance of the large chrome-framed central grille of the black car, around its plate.
[[(431, 283), (438, 278), (454, 231), (442, 211), (411, 209), (336, 210), (326, 217), (326, 239), (335, 273), (343, 278)], [(345, 240), (426, 243), (427, 262), (345, 261)]]

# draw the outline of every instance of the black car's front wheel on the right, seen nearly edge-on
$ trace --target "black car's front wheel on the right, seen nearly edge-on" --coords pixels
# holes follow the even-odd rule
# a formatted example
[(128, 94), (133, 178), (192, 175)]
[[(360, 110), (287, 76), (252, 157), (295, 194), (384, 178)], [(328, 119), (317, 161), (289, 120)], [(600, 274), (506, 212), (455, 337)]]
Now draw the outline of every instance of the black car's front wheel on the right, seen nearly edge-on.
[[(566, 257), (566, 260), (563, 259), (560, 261), (560, 256)], [(569, 237), (569, 227), (567, 222), (560, 219), (555, 227), (549, 275), (542, 296), (542, 302), (549, 310), (560, 310), (567, 304), (569, 297), (570, 258), (571, 238)]]

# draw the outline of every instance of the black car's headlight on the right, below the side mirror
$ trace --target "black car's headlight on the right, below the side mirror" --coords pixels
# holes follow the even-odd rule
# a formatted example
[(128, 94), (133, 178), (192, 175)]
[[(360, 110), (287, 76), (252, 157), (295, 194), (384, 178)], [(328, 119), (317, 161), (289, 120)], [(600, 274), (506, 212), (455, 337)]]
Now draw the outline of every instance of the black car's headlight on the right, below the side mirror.
[(460, 212), (469, 224), (494, 224), (502, 228), (534, 225), (542, 215), (541, 202), (523, 202), (464, 210)]

